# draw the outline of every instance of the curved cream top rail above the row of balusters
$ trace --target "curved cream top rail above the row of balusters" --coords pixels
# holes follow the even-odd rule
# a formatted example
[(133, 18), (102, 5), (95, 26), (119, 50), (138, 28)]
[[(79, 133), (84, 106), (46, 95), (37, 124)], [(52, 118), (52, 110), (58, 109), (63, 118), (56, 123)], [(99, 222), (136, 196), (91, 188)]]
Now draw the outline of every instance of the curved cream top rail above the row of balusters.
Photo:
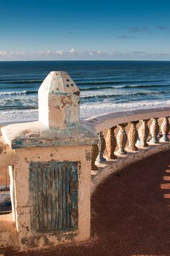
[(109, 129), (117, 124), (139, 121), (149, 118), (161, 118), (170, 116), (170, 108), (148, 108), (141, 110), (126, 110), (119, 112), (106, 113), (85, 119), (85, 122), (96, 132)]

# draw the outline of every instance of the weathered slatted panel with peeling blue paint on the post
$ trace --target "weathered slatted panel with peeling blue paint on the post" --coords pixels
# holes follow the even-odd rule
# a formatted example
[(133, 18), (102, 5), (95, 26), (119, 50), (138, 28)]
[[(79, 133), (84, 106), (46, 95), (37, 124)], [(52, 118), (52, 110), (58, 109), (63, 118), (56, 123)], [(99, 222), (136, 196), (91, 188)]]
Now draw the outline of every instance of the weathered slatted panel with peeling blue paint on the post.
[(78, 162), (31, 162), (31, 230), (77, 229)]

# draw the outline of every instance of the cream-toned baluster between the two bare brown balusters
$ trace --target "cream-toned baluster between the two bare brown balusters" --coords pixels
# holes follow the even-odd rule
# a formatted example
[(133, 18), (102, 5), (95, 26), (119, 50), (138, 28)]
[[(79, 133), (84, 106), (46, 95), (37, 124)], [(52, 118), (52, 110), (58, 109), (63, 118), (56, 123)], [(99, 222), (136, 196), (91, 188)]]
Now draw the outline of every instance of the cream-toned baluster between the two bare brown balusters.
[(125, 144), (127, 143), (127, 135), (125, 132), (125, 126), (127, 124), (119, 124), (119, 132), (117, 133), (117, 144), (118, 144), (118, 150), (117, 153), (119, 154), (127, 154), (127, 151), (125, 151)]

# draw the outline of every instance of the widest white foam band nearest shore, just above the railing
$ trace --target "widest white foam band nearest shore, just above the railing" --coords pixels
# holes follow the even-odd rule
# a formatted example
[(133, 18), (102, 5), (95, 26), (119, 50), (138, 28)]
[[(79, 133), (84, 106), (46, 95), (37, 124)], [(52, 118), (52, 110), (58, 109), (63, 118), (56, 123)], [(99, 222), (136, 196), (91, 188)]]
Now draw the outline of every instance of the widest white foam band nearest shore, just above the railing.
[[(121, 110), (135, 110), (144, 108), (170, 107), (170, 100), (160, 101), (142, 101), (115, 104), (107, 103), (88, 103), (80, 105), (80, 118), (88, 118), (103, 113), (117, 112)], [(27, 122), (38, 120), (38, 110), (5, 110), (0, 111), (0, 124), (9, 124), (14, 122)]]

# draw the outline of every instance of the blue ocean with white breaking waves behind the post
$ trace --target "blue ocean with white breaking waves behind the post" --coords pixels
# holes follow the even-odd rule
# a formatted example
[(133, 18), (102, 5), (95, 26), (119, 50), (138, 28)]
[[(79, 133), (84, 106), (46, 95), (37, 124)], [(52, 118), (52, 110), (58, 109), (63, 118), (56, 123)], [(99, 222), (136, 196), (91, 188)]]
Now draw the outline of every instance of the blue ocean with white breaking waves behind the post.
[(80, 117), (170, 106), (170, 61), (0, 61), (0, 122), (38, 119), (37, 91), (50, 71), (80, 88)]

